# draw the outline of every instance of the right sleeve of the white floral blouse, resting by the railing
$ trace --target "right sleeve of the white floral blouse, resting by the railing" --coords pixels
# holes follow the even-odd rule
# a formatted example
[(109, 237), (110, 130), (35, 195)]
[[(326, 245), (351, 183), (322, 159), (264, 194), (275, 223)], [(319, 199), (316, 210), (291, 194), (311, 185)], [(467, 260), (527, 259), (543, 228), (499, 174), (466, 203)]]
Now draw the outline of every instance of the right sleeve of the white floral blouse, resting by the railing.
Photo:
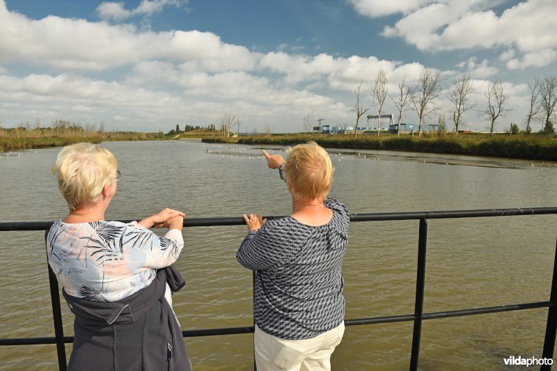
[(173, 264), (184, 248), (184, 238), (180, 230), (171, 229), (164, 237), (159, 237), (136, 222), (127, 225), (122, 238), (124, 246), (132, 253), (139, 251), (143, 253), (143, 259), (134, 260), (143, 260), (143, 267), (151, 269), (164, 268)]

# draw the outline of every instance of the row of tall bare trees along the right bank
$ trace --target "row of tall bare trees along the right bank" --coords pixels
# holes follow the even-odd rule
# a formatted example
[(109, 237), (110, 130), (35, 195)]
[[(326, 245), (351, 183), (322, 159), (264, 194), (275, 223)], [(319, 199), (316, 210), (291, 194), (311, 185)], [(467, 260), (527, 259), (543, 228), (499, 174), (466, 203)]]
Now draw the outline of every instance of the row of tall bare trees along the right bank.
[[(414, 109), (416, 112), (418, 116), (418, 136), (421, 136), (423, 132), (425, 118), (431, 113), (439, 111), (439, 106), (434, 104), (434, 101), (441, 95), (441, 74), (438, 71), (423, 68), (413, 85), (408, 85), (405, 80), (406, 78), (402, 79), (402, 82), (398, 84), (398, 95), (393, 97), (388, 94), (389, 81), (386, 79), (384, 70), (379, 70), (375, 79), (375, 85), (372, 89), (372, 100), (379, 120), (377, 135), (379, 135), (381, 113), (387, 95), (389, 95), (398, 111), (399, 135), (402, 115), (405, 111)], [(356, 103), (353, 109), (354, 113), (356, 113), (354, 134), (356, 134), (361, 116), (369, 110), (369, 108), (364, 108), (363, 104), (361, 104), (361, 84), (362, 82), (360, 81), (359, 86), (354, 90), (354, 95), (356, 97)], [(553, 118), (556, 113), (557, 76), (550, 75), (543, 79), (536, 78), (533, 83), (528, 81), (528, 86), (531, 90), (531, 102), (525, 120), (526, 133), (531, 132), (532, 120), (543, 120), (544, 132), (548, 132), (552, 125), (551, 118)], [(464, 114), (478, 106), (477, 102), (471, 100), (473, 92), (473, 80), (469, 74), (461, 74), (455, 77), (452, 86), (447, 90), (446, 98), (451, 104), (451, 111), (453, 111), (452, 118), (453, 124), (455, 125), (455, 133), (458, 132), (459, 125), (462, 124)], [(512, 109), (508, 108), (508, 97), (504, 93), (501, 81), (489, 81), (484, 95), (487, 99), (487, 104), (483, 109), (477, 112), (489, 120), (489, 132), (493, 134), (496, 120), (506, 116)], [(441, 121), (441, 116), (439, 117)], [(444, 123), (444, 118), (442, 121)]]

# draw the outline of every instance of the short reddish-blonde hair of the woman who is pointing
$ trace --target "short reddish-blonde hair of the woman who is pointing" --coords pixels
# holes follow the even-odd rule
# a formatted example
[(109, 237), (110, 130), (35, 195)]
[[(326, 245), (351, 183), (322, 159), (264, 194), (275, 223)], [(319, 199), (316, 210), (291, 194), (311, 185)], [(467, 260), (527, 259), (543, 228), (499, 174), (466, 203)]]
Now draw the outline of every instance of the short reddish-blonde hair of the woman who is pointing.
[(284, 177), (290, 192), (301, 200), (327, 198), (333, 183), (334, 168), (326, 150), (314, 141), (286, 150)]

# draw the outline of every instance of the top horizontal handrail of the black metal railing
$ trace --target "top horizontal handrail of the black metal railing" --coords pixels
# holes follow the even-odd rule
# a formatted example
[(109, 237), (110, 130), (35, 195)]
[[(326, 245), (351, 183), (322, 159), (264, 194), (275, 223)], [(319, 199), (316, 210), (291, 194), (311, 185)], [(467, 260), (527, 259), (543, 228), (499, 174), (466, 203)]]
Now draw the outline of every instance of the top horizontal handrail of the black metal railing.
[[(517, 216), (517, 215), (543, 215), (557, 214), (557, 207), (520, 207), (515, 209), (489, 209), (489, 210), (453, 210), (432, 212), (383, 212), (374, 214), (350, 214), (350, 221), (393, 221), (416, 219), (455, 219), (455, 218), (480, 218), (487, 216)], [(284, 216), (265, 216), (267, 219), (278, 219)], [(132, 220), (120, 220), (130, 223)], [(0, 232), (10, 230), (47, 230), (54, 221), (15, 221), (0, 223)], [(186, 218), (185, 227), (212, 227), (212, 226), (243, 226), (245, 221), (240, 216), (214, 217), (214, 218)]]

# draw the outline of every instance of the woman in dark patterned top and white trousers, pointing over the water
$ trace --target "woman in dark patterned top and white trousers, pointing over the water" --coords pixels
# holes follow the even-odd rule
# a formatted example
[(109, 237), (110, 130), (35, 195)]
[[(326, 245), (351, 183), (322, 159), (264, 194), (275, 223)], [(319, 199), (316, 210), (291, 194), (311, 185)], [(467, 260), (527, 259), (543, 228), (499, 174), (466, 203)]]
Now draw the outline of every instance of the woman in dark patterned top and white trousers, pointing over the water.
[(284, 161), (269, 155), (292, 196), (292, 214), (269, 220), (244, 214), (249, 233), (236, 258), (256, 271), (254, 348), (261, 370), (330, 370), (344, 333), (341, 265), (350, 214), (328, 198), (334, 168), (315, 142)]

